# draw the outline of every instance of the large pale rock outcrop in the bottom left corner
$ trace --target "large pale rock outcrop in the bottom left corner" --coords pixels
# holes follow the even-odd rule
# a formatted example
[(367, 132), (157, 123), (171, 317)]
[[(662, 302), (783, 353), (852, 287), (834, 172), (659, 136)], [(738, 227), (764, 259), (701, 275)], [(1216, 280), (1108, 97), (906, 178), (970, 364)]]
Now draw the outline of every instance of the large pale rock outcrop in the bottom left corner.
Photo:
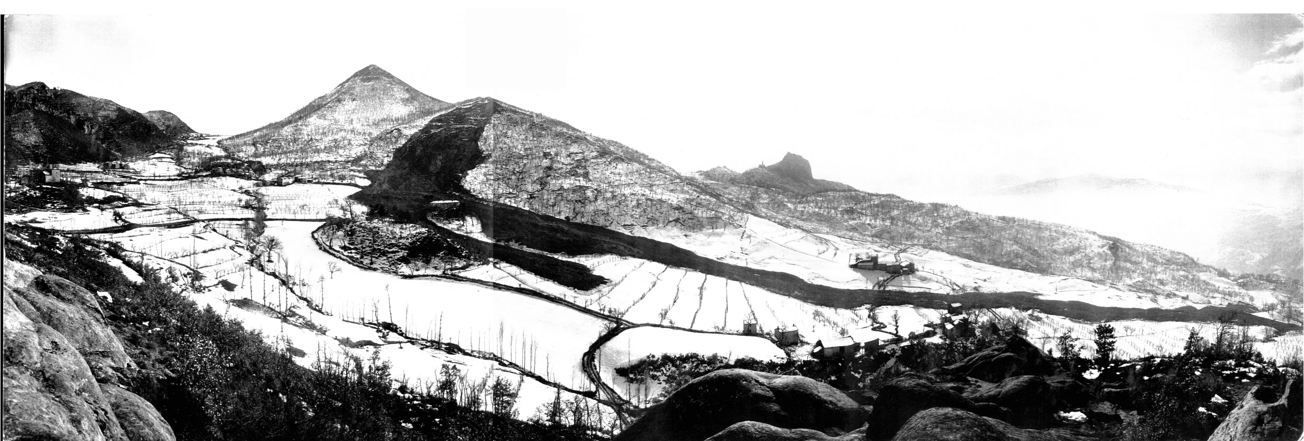
[(93, 316), (89, 292), (8, 258), (4, 273), (5, 440), (175, 440), (154, 406), (98, 381), (113, 381), (129, 360)]

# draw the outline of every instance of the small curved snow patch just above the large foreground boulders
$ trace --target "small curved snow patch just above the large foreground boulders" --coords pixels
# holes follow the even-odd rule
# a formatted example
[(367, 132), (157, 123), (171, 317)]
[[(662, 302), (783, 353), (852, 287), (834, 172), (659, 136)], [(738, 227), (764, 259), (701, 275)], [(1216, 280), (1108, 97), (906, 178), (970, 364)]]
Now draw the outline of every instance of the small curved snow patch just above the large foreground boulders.
[(775, 343), (760, 337), (692, 333), (679, 329), (643, 326), (625, 330), (602, 344), (597, 352), (597, 365), (602, 381), (626, 399), (640, 404), (656, 397), (660, 384), (630, 384), (615, 374), (615, 368), (630, 365), (648, 355), (702, 354), (720, 355), (729, 360), (752, 357), (763, 361), (788, 359)]

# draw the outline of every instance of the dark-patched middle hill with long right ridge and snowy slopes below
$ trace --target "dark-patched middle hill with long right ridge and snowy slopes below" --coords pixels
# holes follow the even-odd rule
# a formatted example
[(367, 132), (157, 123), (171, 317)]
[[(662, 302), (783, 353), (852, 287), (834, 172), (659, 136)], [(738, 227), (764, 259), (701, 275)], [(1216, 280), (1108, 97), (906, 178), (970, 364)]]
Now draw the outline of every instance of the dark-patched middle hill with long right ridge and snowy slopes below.
[[(1114, 296), (1226, 304), (1245, 295), (1209, 282), (1214, 269), (1158, 247), (858, 192), (814, 179), (797, 155), (771, 167), (778, 172), (713, 171), (733, 184), (695, 180), (617, 142), (477, 98), (434, 117), (352, 198), (372, 215), (426, 226), (484, 249), (473, 254), (582, 291), (593, 281), (585, 271), (539, 266), (528, 254), (645, 260), (837, 308), (897, 301), (866, 290), (882, 274), (845, 267), (866, 251), (927, 262), (930, 271), (888, 284), (910, 292), (1024, 291), (1097, 305)], [(460, 205), (428, 205), (445, 200)], [(1076, 287), (1061, 283), (1071, 279)], [(1265, 301), (1275, 300), (1257, 304)]]

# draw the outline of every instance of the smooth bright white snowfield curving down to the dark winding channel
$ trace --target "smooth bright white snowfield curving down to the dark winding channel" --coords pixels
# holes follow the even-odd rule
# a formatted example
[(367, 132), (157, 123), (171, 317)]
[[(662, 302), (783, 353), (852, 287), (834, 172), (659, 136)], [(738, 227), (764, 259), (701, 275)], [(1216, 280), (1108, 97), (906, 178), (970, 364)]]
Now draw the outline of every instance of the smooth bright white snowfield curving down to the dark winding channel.
[[(306, 283), (325, 311), (353, 321), (395, 322), (415, 337), (498, 354), (575, 389), (591, 389), (580, 359), (606, 321), (511, 291), (442, 279), (404, 279), (336, 260), (313, 243), (317, 222), (267, 222), (286, 253), (276, 262)], [(330, 262), (340, 269), (331, 274)]]

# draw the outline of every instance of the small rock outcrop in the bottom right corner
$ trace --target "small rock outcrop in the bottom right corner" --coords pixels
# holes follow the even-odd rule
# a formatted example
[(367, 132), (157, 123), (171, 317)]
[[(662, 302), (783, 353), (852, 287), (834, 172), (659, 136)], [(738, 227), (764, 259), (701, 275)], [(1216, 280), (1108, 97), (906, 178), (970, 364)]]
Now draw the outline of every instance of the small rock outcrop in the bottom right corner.
[(1209, 441), (1296, 440), (1300, 437), (1300, 411), (1290, 406), (1292, 393), (1299, 394), (1294, 385), (1295, 381), (1287, 382), (1281, 397), (1273, 388), (1254, 386), (1227, 414)]

